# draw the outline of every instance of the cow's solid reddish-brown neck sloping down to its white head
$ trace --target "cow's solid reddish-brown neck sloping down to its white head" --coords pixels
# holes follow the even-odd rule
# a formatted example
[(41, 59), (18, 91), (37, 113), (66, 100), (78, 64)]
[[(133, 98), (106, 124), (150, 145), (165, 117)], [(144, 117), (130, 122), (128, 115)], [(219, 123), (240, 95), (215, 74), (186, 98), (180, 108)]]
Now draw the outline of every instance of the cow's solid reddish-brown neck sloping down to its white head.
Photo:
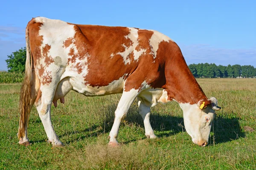
[(180, 55), (171, 61), (171, 65), (165, 71), (166, 85), (164, 88), (166, 88), (169, 100), (175, 99), (178, 103), (191, 105), (197, 104), (200, 100), (206, 100), (207, 96), (189, 70), (181, 52)]

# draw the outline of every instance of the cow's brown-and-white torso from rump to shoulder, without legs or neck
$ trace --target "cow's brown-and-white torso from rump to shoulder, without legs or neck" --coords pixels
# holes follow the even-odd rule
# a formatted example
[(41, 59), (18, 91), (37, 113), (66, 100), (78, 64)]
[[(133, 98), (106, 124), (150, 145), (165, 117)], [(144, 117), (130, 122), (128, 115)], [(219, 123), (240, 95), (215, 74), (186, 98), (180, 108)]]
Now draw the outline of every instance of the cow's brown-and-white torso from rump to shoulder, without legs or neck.
[(165, 60), (157, 50), (160, 42), (172, 41), (157, 31), (76, 25), (44, 17), (29, 25), (35, 71), (43, 84), (52, 79), (55, 67), (64, 68), (58, 73), (61, 79), (70, 77), (79, 86), (75, 90), (90, 91), (87, 95), (122, 93), (131, 75), (129, 81), (138, 83), (128, 83), (126, 90), (140, 88), (143, 82), (154, 88), (165, 84)]

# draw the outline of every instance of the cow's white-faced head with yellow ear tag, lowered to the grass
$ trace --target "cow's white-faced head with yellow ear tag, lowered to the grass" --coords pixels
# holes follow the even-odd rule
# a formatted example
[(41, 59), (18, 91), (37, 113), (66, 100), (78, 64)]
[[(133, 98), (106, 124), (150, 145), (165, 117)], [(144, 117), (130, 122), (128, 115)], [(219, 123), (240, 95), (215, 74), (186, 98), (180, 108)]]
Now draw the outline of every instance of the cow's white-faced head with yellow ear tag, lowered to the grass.
[(215, 111), (219, 111), (217, 99), (201, 100), (198, 104), (180, 104), (183, 110), (184, 125), (192, 141), (199, 146), (206, 146), (210, 135)]

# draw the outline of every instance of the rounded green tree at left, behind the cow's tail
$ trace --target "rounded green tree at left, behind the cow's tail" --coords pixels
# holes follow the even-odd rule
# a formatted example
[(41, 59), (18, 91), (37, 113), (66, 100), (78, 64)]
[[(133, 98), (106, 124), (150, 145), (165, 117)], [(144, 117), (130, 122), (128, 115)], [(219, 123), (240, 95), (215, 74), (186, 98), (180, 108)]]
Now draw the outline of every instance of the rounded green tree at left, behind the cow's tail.
[(7, 68), (9, 72), (22, 73), (25, 71), (26, 63), (26, 47), (13, 52), (11, 55), (7, 56), (6, 59)]

